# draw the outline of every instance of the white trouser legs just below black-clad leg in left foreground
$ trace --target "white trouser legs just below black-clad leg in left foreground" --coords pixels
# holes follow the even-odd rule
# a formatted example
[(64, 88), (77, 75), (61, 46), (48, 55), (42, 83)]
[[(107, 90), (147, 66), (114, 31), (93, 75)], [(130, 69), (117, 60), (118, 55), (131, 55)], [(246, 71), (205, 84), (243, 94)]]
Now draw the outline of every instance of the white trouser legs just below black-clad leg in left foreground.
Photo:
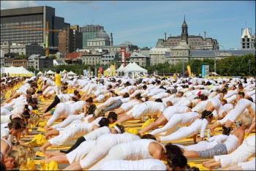
[(69, 160), (69, 164), (72, 164), (75, 161), (82, 160), (91, 151), (91, 149), (94, 148), (95, 142), (95, 140), (86, 140), (82, 142), (78, 146), (78, 148), (75, 148), (75, 150), (67, 153), (67, 159)]

